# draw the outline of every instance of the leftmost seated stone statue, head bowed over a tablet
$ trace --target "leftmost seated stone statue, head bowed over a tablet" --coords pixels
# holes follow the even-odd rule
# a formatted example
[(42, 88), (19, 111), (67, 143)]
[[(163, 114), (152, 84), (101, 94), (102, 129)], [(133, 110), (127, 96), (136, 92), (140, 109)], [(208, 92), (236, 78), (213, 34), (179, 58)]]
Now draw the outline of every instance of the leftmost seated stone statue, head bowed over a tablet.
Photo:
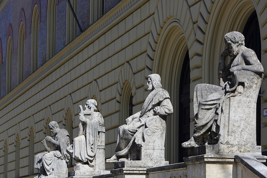
[(69, 146), (69, 133), (60, 129), (55, 121), (50, 122), (48, 126), (55, 138), (46, 136), (42, 141), (46, 152), (34, 156), (34, 168), (40, 173), (37, 177), (68, 177), (69, 154), (66, 148)]

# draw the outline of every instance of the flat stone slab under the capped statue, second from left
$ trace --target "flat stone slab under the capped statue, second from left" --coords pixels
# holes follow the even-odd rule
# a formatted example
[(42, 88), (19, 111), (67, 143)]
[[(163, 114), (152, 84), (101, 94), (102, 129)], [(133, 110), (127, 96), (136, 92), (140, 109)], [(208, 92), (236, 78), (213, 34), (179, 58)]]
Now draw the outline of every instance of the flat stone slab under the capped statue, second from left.
[(91, 178), (93, 176), (110, 174), (110, 171), (93, 171), (93, 170), (79, 170), (69, 172), (69, 178)]

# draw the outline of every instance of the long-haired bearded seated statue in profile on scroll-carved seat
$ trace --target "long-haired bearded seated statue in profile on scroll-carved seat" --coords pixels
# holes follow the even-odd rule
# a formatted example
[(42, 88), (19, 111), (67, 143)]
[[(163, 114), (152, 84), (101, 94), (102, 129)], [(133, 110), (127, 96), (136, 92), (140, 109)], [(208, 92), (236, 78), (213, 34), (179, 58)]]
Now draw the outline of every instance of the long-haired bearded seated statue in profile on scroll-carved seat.
[[(148, 75), (148, 91), (142, 110), (128, 117), (125, 125), (118, 128), (117, 147), (115, 155), (107, 162), (123, 160), (143, 160), (140, 147), (149, 146), (154, 155), (164, 161), (164, 139), (166, 131), (166, 116), (173, 113), (169, 93), (162, 89), (158, 74)], [(145, 150), (145, 149), (144, 149)], [(156, 154), (156, 152), (159, 154)], [(146, 152), (143, 157), (153, 159), (152, 152)]]

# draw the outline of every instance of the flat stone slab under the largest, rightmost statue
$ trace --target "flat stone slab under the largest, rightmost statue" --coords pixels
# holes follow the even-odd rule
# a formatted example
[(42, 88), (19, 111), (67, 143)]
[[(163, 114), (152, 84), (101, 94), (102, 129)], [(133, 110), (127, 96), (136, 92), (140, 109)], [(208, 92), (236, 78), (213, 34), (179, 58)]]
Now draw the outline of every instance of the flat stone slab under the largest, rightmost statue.
[(197, 156), (202, 154), (259, 154), (261, 155), (261, 146), (256, 145), (202, 145), (188, 148), (188, 156)]

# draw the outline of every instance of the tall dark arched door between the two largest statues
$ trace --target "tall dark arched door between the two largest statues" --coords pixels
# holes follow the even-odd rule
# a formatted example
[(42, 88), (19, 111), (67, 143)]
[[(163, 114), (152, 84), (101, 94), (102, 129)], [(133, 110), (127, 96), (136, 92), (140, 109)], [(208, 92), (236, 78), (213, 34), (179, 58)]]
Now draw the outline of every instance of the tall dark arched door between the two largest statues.
[(187, 157), (187, 149), (181, 144), (190, 138), (190, 65), (188, 50), (184, 57), (179, 86), (179, 162)]

